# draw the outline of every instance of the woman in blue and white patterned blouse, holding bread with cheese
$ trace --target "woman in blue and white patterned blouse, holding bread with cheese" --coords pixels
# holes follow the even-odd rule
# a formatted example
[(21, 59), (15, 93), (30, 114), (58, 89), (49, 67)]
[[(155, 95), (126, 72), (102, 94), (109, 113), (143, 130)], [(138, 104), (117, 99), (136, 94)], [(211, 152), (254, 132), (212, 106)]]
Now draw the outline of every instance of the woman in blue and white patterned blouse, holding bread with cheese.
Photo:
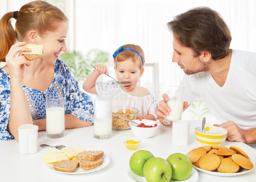
[[(79, 90), (67, 65), (58, 59), (61, 51), (67, 51), (65, 14), (49, 3), (33, 1), (18, 12), (6, 13), (0, 27), (0, 60), (7, 64), (0, 68), (0, 139), (18, 140), (17, 128), (24, 123), (45, 130), (45, 97), (49, 96), (65, 98), (65, 128), (92, 125), (90, 97)], [(30, 51), (22, 46), (25, 43), (42, 44), (45, 55), (29, 62), (20, 54)]]

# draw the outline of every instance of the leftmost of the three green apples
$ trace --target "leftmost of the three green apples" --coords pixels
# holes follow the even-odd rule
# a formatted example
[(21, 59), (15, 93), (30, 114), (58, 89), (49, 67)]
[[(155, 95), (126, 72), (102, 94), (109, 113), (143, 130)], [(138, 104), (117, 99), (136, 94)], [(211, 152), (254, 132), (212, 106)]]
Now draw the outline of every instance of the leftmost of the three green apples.
[(138, 150), (138, 151), (134, 152), (134, 154), (132, 154), (132, 156), (130, 158), (130, 162), (129, 162), (132, 172), (134, 172), (135, 174), (137, 174), (139, 176), (144, 176), (143, 175), (143, 166), (144, 166), (145, 162), (152, 157), (154, 157), (154, 155), (147, 150)]

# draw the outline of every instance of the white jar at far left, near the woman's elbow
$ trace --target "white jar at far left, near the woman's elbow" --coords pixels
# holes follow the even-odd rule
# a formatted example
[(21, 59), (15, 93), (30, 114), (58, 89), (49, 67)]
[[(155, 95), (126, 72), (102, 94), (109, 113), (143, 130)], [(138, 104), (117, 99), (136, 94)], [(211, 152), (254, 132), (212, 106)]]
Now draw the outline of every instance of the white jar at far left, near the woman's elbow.
[(22, 124), (18, 127), (20, 154), (34, 154), (38, 151), (38, 126)]

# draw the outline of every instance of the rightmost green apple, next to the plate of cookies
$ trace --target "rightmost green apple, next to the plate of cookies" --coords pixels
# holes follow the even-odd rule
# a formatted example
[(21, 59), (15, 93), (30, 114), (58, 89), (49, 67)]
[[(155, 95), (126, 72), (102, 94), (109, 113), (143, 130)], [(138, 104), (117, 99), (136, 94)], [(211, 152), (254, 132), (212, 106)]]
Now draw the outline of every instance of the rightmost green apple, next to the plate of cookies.
[(172, 166), (172, 178), (177, 180), (187, 179), (192, 171), (192, 163), (189, 158), (181, 153), (170, 155), (166, 161)]

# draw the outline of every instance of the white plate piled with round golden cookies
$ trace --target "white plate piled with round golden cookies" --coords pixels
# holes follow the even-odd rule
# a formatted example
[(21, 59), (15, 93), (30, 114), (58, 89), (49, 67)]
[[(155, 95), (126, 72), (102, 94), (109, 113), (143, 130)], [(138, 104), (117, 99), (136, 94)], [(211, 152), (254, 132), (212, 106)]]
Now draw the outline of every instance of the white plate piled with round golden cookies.
[(196, 170), (217, 176), (237, 176), (253, 168), (249, 156), (237, 146), (202, 146), (187, 156)]

